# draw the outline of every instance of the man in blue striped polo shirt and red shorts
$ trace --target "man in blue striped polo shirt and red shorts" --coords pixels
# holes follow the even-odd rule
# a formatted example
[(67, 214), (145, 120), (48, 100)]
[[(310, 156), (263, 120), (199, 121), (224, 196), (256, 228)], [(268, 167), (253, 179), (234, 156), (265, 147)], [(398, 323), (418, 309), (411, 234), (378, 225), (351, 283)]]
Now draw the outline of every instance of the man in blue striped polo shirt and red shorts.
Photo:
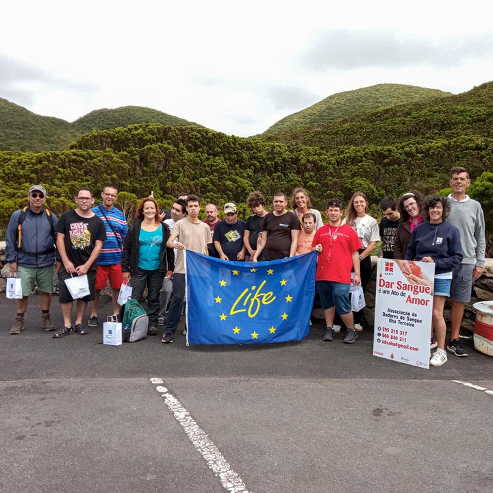
[(91, 302), (89, 327), (97, 327), (98, 325), (99, 293), (106, 288), (108, 279), (110, 279), (112, 288), (113, 314), (118, 315), (120, 311), (118, 293), (123, 283), (121, 252), (123, 238), (127, 236), (127, 219), (123, 212), (114, 206), (117, 195), (118, 190), (114, 186), (105, 186), (103, 192), (101, 192), (103, 201), (96, 207), (92, 207), (92, 212), (97, 214), (105, 224), (107, 239), (103, 242), (103, 249), (97, 258), (96, 297)]

